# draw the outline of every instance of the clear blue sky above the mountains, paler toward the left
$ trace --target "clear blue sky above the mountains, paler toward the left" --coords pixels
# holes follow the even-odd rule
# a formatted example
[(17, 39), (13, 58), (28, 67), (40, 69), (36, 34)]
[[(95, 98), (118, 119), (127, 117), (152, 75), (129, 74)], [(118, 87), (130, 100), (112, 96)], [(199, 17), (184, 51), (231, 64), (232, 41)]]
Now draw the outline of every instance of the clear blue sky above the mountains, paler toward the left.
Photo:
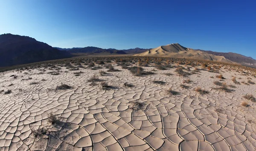
[(0, 34), (62, 48), (179, 43), (256, 59), (255, 0), (0, 0)]

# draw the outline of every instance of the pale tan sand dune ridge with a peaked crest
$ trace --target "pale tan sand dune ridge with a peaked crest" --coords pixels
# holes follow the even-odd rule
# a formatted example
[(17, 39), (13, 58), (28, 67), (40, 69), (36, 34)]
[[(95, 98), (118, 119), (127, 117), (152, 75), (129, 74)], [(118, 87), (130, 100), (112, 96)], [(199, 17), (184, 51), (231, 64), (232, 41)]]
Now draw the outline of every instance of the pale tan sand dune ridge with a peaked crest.
[(226, 59), (224, 56), (208, 54), (206, 52), (197, 51), (181, 46), (180, 44), (169, 44), (150, 49), (146, 52), (136, 54), (136, 56), (156, 56), (156, 57), (173, 57), (173, 58), (194, 58), (211, 61), (220, 61), (225, 63), (235, 63)]

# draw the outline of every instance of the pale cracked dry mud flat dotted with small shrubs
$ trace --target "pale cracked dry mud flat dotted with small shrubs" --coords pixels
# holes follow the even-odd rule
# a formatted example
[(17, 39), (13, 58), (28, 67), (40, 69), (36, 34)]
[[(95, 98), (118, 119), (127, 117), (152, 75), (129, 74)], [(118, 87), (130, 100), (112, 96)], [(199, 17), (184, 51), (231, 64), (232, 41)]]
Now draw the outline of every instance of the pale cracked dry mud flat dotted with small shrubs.
[[(201, 71), (181, 77), (175, 69), (169, 69), (158, 70), (155, 75), (133, 76), (128, 70), (115, 68), (121, 71), (106, 76), (100, 76), (99, 70), (82, 68), (79, 71), (84, 73), (75, 76), (77, 71), (65, 67), (60, 75), (47, 74), (50, 70), (38, 74), (37, 69), (0, 73), (0, 90), (12, 90), (10, 94), (0, 93), (0, 151), (256, 150), (256, 105), (247, 101), (250, 107), (241, 106), (246, 93), (256, 96), (255, 84), (235, 84), (235, 91), (227, 93), (212, 89), (216, 78), (209, 77), (217, 73)], [(231, 76), (235, 72), (222, 70), (227, 78), (224, 81), (233, 84)], [(114, 89), (102, 90), (100, 82), (90, 85), (87, 80), (95, 73)], [(242, 78), (238, 81), (247, 78), (236, 74)], [(21, 80), (29, 77), (32, 79)], [(43, 78), (46, 81), (41, 81)], [(187, 78), (192, 80), (186, 84), (190, 88), (181, 88)], [(154, 80), (166, 84), (154, 84)], [(134, 87), (125, 87), (125, 82)], [(61, 83), (73, 88), (56, 91)], [(196, 93), (193, 89), (198, 86), (209, 93)], [(166, 94), (169, 88), (179, 94)], [(141, 110), (130, 109), (136, 100), (143, 102)], [(216, 108), (221, 110), (217, 113)], [(59, 125), (48, 122), (52, 112), (61, 120)], [(47, 134), (35, 137), (32, 131), (42, 127), (47, 128)]]

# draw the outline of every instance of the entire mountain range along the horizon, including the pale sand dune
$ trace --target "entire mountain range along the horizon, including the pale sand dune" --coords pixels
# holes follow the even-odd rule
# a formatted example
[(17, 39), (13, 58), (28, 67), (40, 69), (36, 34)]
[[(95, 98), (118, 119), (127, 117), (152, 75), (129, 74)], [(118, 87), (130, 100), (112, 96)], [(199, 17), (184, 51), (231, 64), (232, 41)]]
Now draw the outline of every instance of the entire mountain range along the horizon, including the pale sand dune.
[(180, 44), (169, 44), (154, 49), (103, 49), (94, 46), (84, 48), (59, 48), (36, 41), (28, 36), (3, 34), (0, 35), (0, 67), (17, 64), (28, 64), (72, 57), (71, 53), (110, 53), (133, 54), (135, 56), (159, 56), (173, 58), (197, 58), (227, 63), (250, 64), (256, 67), (256, 60), (233, 52), (213, 52), (201, 49), (191, 49)]

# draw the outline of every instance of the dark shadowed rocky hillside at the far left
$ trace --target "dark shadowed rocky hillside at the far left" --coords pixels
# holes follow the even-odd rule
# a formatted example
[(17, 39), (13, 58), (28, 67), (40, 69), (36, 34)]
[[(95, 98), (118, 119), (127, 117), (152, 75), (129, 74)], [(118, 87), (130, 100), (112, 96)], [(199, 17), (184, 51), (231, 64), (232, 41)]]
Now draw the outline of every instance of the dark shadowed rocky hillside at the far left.
[(0, 67), (67, 58), (69, 54), (28, 36), (0, 35)]

